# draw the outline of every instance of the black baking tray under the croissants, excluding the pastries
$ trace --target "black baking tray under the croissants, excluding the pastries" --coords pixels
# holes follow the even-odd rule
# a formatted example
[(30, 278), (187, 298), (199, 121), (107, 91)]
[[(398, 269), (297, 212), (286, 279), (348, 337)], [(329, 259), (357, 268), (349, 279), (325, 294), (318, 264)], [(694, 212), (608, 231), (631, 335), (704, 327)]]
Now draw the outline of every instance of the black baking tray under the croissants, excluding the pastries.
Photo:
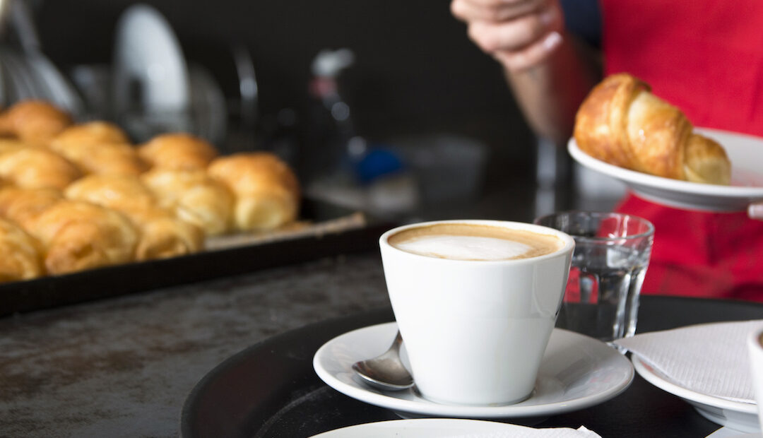
[(0, 316), (372, 250), (390, 227), (357, 211), (305, 199), (300, 221), (285, 230), (213, 237), (206, 250), (187, 256), (2, 284)]

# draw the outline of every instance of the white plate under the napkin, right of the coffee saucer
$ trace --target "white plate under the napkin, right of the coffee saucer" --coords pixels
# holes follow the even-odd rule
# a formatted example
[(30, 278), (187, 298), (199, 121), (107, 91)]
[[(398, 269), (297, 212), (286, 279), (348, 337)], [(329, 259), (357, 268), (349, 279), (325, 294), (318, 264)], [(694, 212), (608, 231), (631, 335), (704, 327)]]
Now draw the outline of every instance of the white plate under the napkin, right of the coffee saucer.
[(760, 431), (757, 405), (742, 403), (741, 401), (731, 401), (726, 398), (713, 397), (712, 395), (692, 391), (674, 383), (667, 376), (643, 362), (636, 354), (631, 356), (631, 360), (636, 372), (645, 381), (663, 391), (683, 398), (684, 401), (694, 406), (694, 409), (700, 415), (713, 421), (713, 423), (744, 433), (758, 433)]

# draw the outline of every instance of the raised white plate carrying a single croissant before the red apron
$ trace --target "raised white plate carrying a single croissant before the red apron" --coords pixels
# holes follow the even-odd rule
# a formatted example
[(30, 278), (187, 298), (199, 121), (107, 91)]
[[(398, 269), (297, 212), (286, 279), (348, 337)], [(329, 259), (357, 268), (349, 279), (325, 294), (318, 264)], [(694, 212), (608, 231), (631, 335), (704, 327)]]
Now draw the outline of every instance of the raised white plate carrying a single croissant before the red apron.
[(731, 185), (700, 184), (662, 178), (604, 163), (584, 153), (571, 138), (567, 150), (582, 166), (624, 182), (640, 197), (658, 204), (700, 211), (745, 211), (763, 200), (763, 138), (723, 130), (696, 129), (726, 149)]

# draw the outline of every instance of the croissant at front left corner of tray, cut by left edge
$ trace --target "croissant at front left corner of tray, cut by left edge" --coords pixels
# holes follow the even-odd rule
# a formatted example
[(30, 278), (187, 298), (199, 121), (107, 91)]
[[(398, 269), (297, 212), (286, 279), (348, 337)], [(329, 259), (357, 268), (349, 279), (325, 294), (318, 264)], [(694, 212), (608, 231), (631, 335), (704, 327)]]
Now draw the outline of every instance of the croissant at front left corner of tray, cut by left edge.
[(43, 275), (41, 246), (17, 224), (0, 219), (0, 282)]

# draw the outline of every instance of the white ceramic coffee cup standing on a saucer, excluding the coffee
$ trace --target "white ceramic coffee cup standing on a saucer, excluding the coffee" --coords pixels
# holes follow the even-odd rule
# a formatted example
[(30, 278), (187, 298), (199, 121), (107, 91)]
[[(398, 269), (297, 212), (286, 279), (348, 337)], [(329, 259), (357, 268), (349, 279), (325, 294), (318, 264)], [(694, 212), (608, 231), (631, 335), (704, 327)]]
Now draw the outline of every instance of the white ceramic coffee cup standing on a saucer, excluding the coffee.
[[(485, 224), (550, 234), (552, 253), (527, 259), (440, 259), (399, 250), (410, 227)], [(389, 298), (417, 390), (445, 404), (512, 404), (532, 394), (567, 284), (575, 241), (566, 233), (504, 221), (436, 221), (381, 235)]]

